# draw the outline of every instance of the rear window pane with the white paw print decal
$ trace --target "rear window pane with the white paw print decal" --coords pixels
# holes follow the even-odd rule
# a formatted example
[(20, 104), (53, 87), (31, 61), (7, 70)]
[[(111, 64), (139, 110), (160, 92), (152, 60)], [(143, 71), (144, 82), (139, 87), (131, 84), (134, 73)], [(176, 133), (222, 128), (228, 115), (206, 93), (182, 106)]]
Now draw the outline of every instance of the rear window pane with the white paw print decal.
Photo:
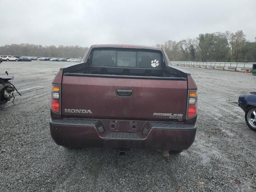
[(153, 52), (138, 52), (138, 67), (139, 68), (160, 68), (161, 56), (159, 53)]

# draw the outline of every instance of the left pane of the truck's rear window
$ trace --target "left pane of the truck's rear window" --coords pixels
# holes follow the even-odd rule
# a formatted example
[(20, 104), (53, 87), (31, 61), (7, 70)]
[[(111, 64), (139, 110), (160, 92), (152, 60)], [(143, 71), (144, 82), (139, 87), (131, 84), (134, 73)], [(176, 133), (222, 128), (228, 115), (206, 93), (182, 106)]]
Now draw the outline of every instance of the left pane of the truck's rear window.
[(94, 65), (94, 66), (116, 66), (116, 51), (95, 50), (92, 54), (92, 65)]

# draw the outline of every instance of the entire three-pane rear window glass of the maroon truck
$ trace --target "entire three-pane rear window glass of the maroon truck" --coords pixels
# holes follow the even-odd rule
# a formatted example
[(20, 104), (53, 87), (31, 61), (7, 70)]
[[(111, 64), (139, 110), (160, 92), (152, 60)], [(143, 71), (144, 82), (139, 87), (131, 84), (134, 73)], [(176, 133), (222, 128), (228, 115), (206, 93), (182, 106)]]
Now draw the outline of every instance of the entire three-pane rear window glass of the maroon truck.
[(161, 56), (155, 52), (95, 50), (92, 54), (92, 65), (160, 68)]

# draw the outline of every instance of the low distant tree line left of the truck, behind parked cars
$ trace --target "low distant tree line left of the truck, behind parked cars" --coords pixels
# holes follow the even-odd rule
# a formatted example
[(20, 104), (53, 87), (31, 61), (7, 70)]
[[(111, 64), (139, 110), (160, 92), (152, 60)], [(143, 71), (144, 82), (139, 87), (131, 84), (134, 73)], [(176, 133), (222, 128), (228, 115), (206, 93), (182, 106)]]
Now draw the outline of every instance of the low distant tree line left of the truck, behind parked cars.
[(11, 44), (0, 46), (0, 55), (80, 58), (84, 56), (87, 50), (88, 47), (80, 47), (78, 45), (60, 45), (56, 47), (54, 45)]

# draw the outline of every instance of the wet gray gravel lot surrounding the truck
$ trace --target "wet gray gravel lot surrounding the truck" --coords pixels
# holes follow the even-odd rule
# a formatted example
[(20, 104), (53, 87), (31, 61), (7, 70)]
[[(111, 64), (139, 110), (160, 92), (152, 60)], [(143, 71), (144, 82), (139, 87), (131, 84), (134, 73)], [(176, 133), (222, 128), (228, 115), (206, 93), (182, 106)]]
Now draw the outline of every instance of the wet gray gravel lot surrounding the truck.
[[(197, 136), (189, 150), (72, 149), (50, 137), (50, 85), (68, 62), (3, 62), (22, 96), (0, 106), (0, 191), (256, 191), (256, 132), (246, 126), (238, 96), (256, 76), (182, 67), (198, 86)], [(235, 180), (240, 180), (240, 183)], [(202, 183), (199, 183), (202, 182)], [(202, 184), (202, 185), (200, 185)]]

